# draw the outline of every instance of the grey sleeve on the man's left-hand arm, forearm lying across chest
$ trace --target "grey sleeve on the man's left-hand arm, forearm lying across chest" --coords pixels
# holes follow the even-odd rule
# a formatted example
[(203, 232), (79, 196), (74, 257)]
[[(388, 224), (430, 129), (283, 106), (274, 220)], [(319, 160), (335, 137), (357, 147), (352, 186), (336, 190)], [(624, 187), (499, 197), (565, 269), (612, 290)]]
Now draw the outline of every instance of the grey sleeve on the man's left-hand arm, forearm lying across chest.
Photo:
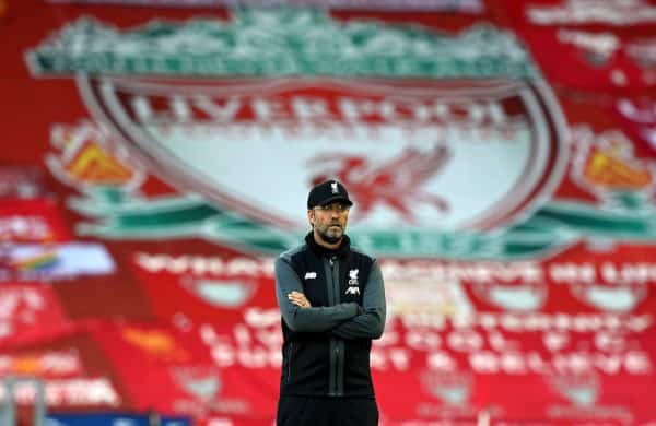
[(276, 260), (276, 298), (282, 319), (293, 331), (328, 331), (358, 315), (358, 304), (302, 308), (288, 299), (292, 292), (303, 293), (303, 284), (292, 267), (283, 259)]

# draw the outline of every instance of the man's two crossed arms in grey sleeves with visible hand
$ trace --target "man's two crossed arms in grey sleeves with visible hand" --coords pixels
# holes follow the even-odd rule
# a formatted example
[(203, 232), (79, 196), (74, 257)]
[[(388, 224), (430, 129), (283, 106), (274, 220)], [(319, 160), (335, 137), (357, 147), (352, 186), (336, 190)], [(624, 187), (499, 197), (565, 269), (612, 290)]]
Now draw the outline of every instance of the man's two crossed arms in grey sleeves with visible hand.
[(282, 258), (276, 261), (276, 297), (282, 318), (298, 332), (330, 332), (341, 339), (378, 339), (385, 327), (385, 289), (377, 262), (372, 265), (363, 293), (363, 306), (344, 303), (313, 307), (303, 284)]

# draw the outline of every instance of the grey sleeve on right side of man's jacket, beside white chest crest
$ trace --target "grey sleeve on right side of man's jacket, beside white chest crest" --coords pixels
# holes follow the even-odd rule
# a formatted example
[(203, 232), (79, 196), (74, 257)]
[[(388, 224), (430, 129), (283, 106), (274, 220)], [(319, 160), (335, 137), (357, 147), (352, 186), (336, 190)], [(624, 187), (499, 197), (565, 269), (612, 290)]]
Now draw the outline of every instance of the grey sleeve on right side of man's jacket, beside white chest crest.
[(387, 308), (385, 284), (377, 261), (372, 264), (368, 281), (362, 296), (363, 312), (332, 329), (342, 339), (379, 339), (385, 329)]

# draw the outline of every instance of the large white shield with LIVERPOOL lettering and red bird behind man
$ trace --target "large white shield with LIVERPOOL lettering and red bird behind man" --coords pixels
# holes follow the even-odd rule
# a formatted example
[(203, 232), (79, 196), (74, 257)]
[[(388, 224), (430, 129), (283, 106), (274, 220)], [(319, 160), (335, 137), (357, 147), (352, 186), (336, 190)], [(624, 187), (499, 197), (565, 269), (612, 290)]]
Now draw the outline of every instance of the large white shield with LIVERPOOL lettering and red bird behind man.
[(558, 110), (540, 83), (82, 76), (79, 84), (92, 113), (181, 192), (296, 234), (307, 228), (308, 189), (338, 178), (355, 199), (351, 235), (389, 252), (505, 251), (506, 241), (480, 232), (524, 221), (566, 161)]

